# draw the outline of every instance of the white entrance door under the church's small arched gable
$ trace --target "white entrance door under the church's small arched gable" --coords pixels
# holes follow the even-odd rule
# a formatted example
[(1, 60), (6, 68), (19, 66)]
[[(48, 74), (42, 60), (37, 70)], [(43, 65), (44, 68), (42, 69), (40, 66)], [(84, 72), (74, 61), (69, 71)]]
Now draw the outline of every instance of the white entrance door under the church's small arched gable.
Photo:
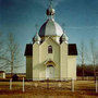
[(46, 70), (46, 78), (53, 78), (54, 77), (54, 68), (52, 65), (48, 65)]

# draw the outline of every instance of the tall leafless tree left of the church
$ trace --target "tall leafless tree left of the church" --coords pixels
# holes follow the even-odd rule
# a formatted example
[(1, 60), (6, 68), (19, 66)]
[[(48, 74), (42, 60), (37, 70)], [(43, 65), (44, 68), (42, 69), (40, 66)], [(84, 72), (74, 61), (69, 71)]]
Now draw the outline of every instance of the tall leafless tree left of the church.
[(11, 72), (11, 75), (13, 75), (14, 70), (21, 66), (20, 62), (22, 58), (19, 45), (15, 41), (14, 35), (12, 33), (8, 34), (3, 52), (4, 53), (0, 57), (3, 62), (3, 65), (1, 68)]

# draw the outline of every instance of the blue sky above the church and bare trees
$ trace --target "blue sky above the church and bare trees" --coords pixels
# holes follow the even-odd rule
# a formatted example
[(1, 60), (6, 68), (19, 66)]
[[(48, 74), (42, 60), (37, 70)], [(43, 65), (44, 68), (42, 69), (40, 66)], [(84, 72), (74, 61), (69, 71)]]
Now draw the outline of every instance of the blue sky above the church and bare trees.
[[(0, 0), (0, 32), (13, 33), (24, 54), (25, 45), (32, 42), (38, 28), (46, 22), (48, 0)], [(69, 42), (90, 39), (98, 45), (98, 0), (53, 0), (54, 20), (69, 36)], [(97, 47), (98, 48), (98, 47)]]

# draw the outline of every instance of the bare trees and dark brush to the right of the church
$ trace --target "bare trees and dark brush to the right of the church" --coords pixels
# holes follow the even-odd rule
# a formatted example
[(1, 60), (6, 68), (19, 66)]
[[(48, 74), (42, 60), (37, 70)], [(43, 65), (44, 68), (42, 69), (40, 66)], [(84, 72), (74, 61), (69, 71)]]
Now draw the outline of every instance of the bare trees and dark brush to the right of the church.
[(96, 76), (98, 72), (98, 49), (95, 39), (89, 40), (87, 46), (84, 41), (78, 47), (78, 76)]

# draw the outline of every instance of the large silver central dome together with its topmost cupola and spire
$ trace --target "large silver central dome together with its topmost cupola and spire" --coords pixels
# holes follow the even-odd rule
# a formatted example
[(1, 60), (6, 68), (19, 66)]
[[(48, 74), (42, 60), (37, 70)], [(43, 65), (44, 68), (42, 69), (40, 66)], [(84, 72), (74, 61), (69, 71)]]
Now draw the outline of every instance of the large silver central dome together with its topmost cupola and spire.
[(39, 36), (40, 37), (61, 37), (63, 34), (63, 30), (61, 26), (54, 21), (53, 15), (56, 11), (52, 9), (52, 0), (50, 0), (49, 8), (47, 9), (47, 15), (48, 20), (42, 24), (42, 26), (39, 29)]

